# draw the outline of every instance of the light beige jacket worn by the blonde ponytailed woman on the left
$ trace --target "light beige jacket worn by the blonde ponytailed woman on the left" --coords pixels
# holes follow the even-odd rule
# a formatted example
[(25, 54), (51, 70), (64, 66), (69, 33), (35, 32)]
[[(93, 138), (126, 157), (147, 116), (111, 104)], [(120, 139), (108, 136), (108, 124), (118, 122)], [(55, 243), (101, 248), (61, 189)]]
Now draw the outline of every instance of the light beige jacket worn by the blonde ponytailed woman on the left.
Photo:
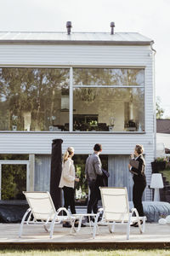
[(75, 183), (75, 166), (73, 163), (73, 160), (71, 158), (68, 158), (62, 168), (60, 182), (59, 182), (59, 188), (69, 187), (74, 188)]

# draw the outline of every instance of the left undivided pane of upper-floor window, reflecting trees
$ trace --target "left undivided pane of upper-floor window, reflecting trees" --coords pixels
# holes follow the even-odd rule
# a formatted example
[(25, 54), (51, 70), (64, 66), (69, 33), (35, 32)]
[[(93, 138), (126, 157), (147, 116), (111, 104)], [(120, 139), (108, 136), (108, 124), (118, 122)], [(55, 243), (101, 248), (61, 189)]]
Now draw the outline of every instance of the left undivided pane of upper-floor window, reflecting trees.
[(0, 68), (1, 131), (68, 131), (65, 68)]

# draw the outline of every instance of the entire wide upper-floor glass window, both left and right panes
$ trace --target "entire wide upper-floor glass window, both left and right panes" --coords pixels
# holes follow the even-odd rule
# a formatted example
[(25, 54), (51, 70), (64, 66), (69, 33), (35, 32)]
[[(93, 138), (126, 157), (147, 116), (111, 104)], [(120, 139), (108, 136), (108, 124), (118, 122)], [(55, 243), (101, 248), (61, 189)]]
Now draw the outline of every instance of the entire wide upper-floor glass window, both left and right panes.
[(2, 67), (0, 131), (144, 131), (144, 68)]

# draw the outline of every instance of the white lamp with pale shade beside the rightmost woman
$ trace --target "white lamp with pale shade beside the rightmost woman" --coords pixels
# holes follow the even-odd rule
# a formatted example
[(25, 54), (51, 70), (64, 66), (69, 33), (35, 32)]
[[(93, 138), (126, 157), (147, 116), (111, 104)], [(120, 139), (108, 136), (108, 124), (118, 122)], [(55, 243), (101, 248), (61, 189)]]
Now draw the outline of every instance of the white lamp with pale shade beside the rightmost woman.
[(154, 201), (160, 201), (159, 189), (163, 189), (163, 180), (162, 180), (161, 173), (153, 173), (151, 175), (150, 188), (155, 189)]

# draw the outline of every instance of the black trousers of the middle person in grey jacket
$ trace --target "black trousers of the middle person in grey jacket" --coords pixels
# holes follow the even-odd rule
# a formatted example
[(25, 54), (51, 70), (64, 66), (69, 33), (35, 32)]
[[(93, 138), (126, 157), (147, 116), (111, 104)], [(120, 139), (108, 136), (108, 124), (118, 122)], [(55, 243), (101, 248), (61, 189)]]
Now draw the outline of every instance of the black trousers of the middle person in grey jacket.
[(88, 187), (90, 189), (90, 199), (88, 201), (88, 213), (98, 212), (98, 201), (99, 201), (99, 188), (96, 186), (96, 181), (89, 181)]

